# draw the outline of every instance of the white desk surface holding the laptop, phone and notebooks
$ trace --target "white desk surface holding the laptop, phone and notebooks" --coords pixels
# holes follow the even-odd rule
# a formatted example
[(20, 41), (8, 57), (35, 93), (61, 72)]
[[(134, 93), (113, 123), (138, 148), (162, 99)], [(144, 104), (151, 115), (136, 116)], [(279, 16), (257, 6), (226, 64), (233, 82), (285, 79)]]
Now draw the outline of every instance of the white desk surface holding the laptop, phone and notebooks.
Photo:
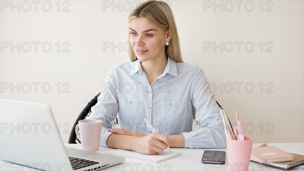
[[(65, 144), (67, 147), (80, 148), (78, 144)], [(253, 147), (260, 146), (260, 143), (254, 143)], [(291, 153), (297, 153), (304, 155), (304, 143), (267, 143), (269, 146), (277, 146), (285, 151)], [(104, 153), (106, 151), (113, 150), (110, 148), (99, 148), (99, 153)], [(201, 162), (202, 155), (205, 149), (183, 149), (183, 148), (171, 148), (172, 151), (181, 152), (181, 156), (175, 157), (173, 159), (163, 161), (161, 163), (151, 163), (141, 160), (126, 158), (125, 162), (114, 165), (104, 170), (227, 170), (229, 165), (227, 164), (203, 164)], [(219, 151), (226, 151), (226, 149), (215, 149)], [(7, 163), (1, 161), (1, 163)], [(227, 163), (227, 155), (226, 155)], [(2, 165), (1, 164), (1, 165)], [(26, 168), (26, 167), (24, 167)], [(2, 170), (2, 167), (0, 168)], [(24, 169), (32, 170), (33, 168)], [(16, 170), (16, 169), (11, 169)], [(250, 162), (249, 170), (284, 170), (277, 167), (272, 167), (265, 164), (260, 164), (257, 162)], [(295, 167), (290, 170), (304, 170), (304, 165)]]

